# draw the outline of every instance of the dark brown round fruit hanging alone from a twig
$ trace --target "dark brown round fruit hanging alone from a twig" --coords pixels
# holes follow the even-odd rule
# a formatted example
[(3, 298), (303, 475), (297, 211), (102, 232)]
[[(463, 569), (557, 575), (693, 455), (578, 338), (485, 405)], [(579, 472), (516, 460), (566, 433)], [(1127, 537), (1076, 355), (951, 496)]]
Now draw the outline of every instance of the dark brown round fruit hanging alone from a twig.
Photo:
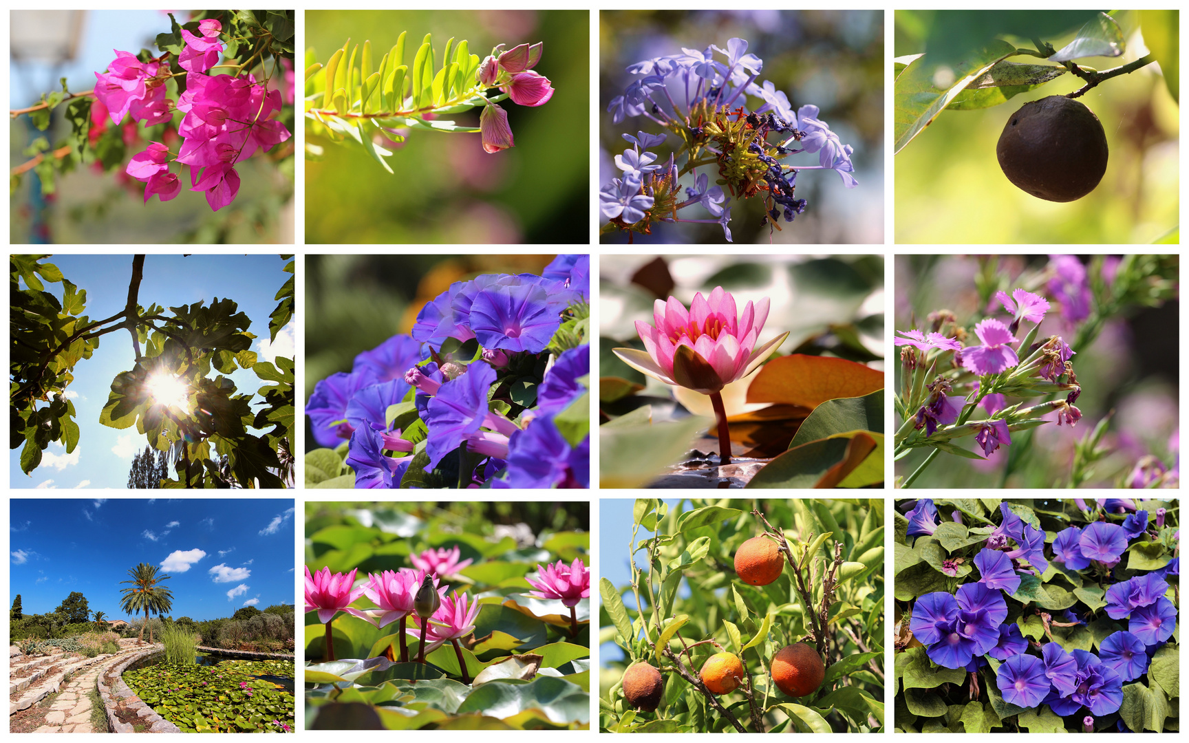
[(1007, 180), (1048, 201), (1075, 201), (1107, 171), (1107, 136), (1081, 101), (1050, 95), (1025, 103), (995, 146)]

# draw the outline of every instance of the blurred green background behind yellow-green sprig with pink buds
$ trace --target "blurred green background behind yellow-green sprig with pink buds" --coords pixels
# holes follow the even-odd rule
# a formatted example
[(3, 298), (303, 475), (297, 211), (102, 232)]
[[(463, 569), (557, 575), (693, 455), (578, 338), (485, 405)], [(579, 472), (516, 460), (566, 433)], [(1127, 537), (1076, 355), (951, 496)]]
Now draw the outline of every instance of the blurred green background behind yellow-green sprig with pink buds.
[[(307, 12), (306, 45), (323, 64), (348, 37), (388, 50), (402, 31), (414, 49), (433, 33), (439, 55), (449, 37), (480, 57), (501, 43), (545, 42), (534, 70), (555, 89), (540, 107), (502, 103), (515, 147), (489, 155), (478, 134), (415, 131), (389, 158), (395, 176), (354, 143), (319, 139), (325, 157), (306, 162), (307, 243), (587, 243), (590, 225), (575, 216), (590, 209), (589, 19), (586, 11)], [(478, 126), (479, 109), (452, 118)]]

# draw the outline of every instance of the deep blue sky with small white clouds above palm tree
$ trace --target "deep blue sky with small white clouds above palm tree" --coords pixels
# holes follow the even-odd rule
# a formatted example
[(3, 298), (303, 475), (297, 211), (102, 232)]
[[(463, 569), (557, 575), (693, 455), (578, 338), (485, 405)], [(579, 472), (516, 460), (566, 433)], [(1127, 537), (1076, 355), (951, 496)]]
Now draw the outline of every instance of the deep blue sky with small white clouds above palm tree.
[(170, 575), (169, 615), (229, 617), (294, 604), (294, 500), (12, 498), (8, 605), (51, 612), (80, 591), (88, 609), (130, 619), (120, 585), (140, 562)]

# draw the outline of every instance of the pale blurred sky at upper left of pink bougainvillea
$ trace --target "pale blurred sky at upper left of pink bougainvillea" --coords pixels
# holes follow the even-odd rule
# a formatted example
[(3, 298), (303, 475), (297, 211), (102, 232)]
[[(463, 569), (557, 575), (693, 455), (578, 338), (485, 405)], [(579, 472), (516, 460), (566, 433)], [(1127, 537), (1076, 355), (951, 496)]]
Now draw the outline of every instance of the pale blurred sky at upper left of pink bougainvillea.
[[(174, 17), (178, 23), (185, 23), (188, 14), (175, 11)], [(42, 93), (61, 90), (59, 77), (67, 78), (71, 92), (89, 90), (95, 87), (95, 73), (106, 70), (107, 64), (115, 58), (114, 49), (133, 55), (141, 49), (157, 52), (153, 40), (158, 33), (169, 33), (169, 15), (161, 11), (87, 11), (78, 53), (71, 63), (52, 68), (32, 62), (12, 65), (10, 107), (24, 108), (40, 97)]]

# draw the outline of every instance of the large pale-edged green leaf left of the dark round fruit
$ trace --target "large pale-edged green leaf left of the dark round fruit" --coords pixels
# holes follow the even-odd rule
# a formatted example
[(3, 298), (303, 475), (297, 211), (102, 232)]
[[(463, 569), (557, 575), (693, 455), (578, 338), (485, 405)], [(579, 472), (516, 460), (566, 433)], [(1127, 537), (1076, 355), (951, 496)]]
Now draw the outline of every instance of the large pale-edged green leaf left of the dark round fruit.
[(893, 139), (899, 152), (913, 140), (968, 84), (982, 77), (996, 62), (1015, 53), (1015, 48), (995, 39), (967, 55), (952, 68), (936, 64), (923, 55), (895, 78)]

